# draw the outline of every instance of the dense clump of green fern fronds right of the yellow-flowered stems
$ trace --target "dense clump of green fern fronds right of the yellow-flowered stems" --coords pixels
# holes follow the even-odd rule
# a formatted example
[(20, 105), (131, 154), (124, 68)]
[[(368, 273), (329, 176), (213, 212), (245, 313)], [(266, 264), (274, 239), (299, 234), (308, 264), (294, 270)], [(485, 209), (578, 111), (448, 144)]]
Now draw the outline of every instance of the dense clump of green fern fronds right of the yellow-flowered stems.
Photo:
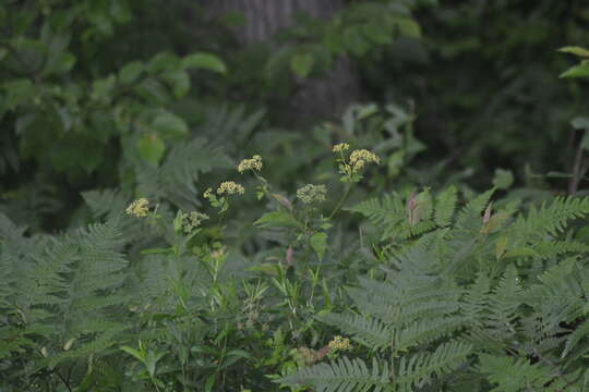
[[(408, 241), (381, 238), (388, 247), (381, 260), (384, 275), (349, 287), (353, 306), (347, 313), (318, 317), (361, 348), (280, 382), (329, 391), (456, 391), (470, 379), (471, 391), (582, 390), (587, 347), (573, 354), (570, 345), (582, 341), (587, 323), (587, 249), (558, 233), (589, 215), (588, 200), (557, 197), (491, 230), (493, 219), (512, 216), (514, 207), (481, 216), (490, 196), (476, 197), (450, 222)], [(444, 210), (455, 208), (455, 197), (453, 188), (441, 193)], [(376, 217), (398, 213), (385, 208), (405, 203), (397, 194), (385, 200), (353, 210), (393, 232), (388, 220)], [(395, 232), (409, 232), (411, 220), (396, 224)], [(497, 255), (504, 235), (509, 240)], [(560, 256), (546, 243), (569, 255)], [(520, 252), (524, 244), (529, 252)]]

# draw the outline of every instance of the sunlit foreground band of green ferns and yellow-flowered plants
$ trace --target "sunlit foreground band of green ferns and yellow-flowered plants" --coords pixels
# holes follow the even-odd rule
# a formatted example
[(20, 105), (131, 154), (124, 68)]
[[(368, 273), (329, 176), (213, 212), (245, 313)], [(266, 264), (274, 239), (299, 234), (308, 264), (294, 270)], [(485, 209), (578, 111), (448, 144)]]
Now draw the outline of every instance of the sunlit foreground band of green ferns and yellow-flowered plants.
[[(589, 199), (350, 201), (383, 162), (350, 149), (333, 148), (341, 192), (278, 191), (253, 156), (238, 171), (257, 185), (214, 182), (207, 209), (100, 191), (95, 223), (61, 234), (1, 216), (0, 388), (584, 391)], [(248, 195), (267, 209), (243, 224), (255, 252), (229, 229)]]

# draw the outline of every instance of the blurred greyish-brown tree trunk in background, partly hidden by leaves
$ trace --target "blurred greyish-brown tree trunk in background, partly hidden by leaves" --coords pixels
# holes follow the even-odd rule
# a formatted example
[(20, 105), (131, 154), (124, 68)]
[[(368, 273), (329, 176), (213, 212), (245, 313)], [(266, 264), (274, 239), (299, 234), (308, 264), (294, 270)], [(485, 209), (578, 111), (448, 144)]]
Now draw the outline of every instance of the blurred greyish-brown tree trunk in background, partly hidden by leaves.
[[(345, 7), (345, 0), (208, 0), (207, 7), (215, 14), (243, 13), (247, 23), (236, 33), (243, 45), (249, 45), (271, 41), (279, 29), (292, 26), (298, 11), (328, 20)], [(360, 96), (353, 64), (341, 58), (323, 78), (302, 81), (290, 107), (293, 119), (306, 123), (341, 114)]]

